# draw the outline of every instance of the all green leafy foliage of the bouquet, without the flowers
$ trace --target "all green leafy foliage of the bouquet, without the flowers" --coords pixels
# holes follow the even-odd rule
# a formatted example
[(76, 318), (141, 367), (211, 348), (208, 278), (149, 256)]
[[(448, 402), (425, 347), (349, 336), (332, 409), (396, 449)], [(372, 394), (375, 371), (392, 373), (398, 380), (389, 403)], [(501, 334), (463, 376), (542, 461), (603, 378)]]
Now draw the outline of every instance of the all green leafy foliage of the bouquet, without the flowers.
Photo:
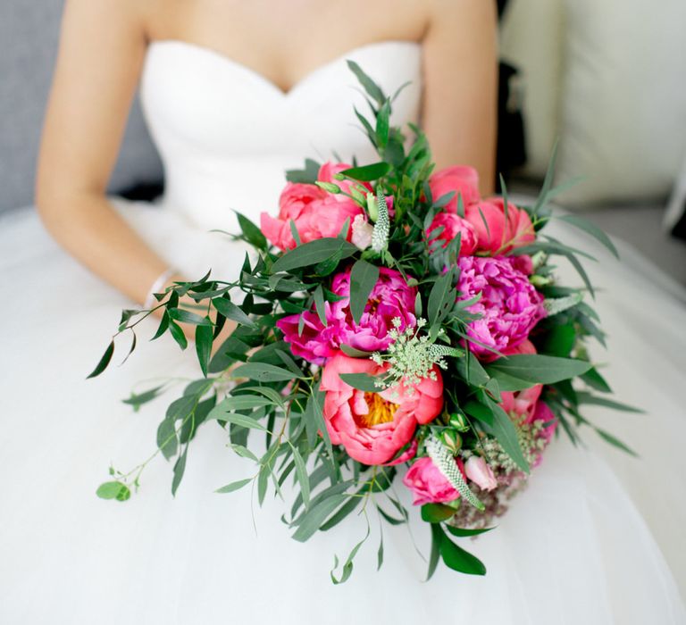
[[(455, 263), (459, 255), (459, 237), (441, 248), (439, 240), (428, 241), (425, 235), (434, 216), (454, 199), (455, 193), (441, 197), (431, 195), (427, 180), (434, 164), (426, 136), (417, 126), (409, 124), (411, 138), (408, 141), (403, 130), (390, 123), (392, 104), (402, 87), (388, 97), (356, 63), (347, 63), (363, 87), (370, 109), (368, 116), (356, 109), (356, 118), (376, 148), (379, 161), (368, 165), (354, 162), (339, 178), (354, 183), (350, 196), (370, 214), (370, 218), (373, 215), (369, 198), (365, 196), (364, 187), (355, 183), (373, 183), (379, 198), (393, 196), (395, 214), (386, 245), (379, 251), (358, 249), (347, 241), (349, 222), (338, 237), (301, 244), (295, 224), (291, 223), (297, 246), (280, 253), (271, 248), (254, 223), (237, 213), (240, 233), (230, 237), (246, 241), (255, 250), (252, 257), (246, 255), (238, 279), (222, 281), (208, 271), (201, 279), (176, 282), (163, 293), (155, 294), (157, 304), (151, 310), (122, 312), (114, 337), (130, 334), (131, 345), (126, 358), (137, 346), (138, 324), (152, 312), (161, 311), (162, 318), (151, 340), (169, 333), (181, 349), (186, 349), (188, 342), (180, 323), (194, 325), (195, 350), (202, 375), (186, 384), (181, 395), (169, 404), (157, 429), (155, 453), (128, 472), (111, 467), (112, 479), (97, 489), (97, 495), (105, 499), (129, 499), (131, 490), (138, 489), (141, 473), (148, 462), (162, 454), (167, 461), (173, 461), (171, 492), (175, 494), (197, 429), (207, 421), (215, 421), (225, 431), (232, 450), (246, 459), (247, 466), (253, 467), (252, 471), (247, 471), (248, 477), (231, 481), (218, 488), (218, 493), (230, 493), (252, 484), (260, 504), (270, 489), (282, 499), (295, 493), (283, 521), (293, 529), (292, 537), (298, 541), (307, 540), (317, 531), (334, 528), (352, 513), (364, 516), (367, 531), (363, 539), (352, 548), (344, 562), (340, 563), (338, 556), (335, 558), (334, 570), (330, 573), (334, 583), (350, 577), (354, 558), (370, 535), (371, 512), (376, 512), (380, 521), (392, 525), (406, 523), (409, 512), (393, 487), (395, 466), (366, 466), (352, 460), (341, 446), (331, 445), (322, 413), (324, 393), (319, 387), (319, 372), (290, 352), (275, 327), (276, 321), (286, 314), (314, 309), (325, 322), (324, 303), (337, 299), (328, 288), (330, 276), (344, 263), (352, 263), (349, 305), (357, 321), (378, 278), (379, 265), (400, 271), (408, 284), (418, 287), (415, 314), (428, 321), (431, 341), (445, 346), (464, 346), (465, 341), (473, 340), (467, 337), (467, 324), (477, 318), (467, 311), (476, 299), (458, 300)], [(564, 189), (552, 186), (554, 163), (555, 151), (540, 196), (526, 209), (537, 231), (553, 219), (549, 203)], [(288, 171), (287, 179), (315, 184), (318, 170), (319, 163), (308, 159), (302, 170)], [(331, 192), (342, 192), (333, 183), (320, 186)], [(502, 186), (507, 206), (504, 182)], [(371, 208), (373, 212), (374, 206)], [(457, 211), (464, 215), (461, 196), (457, 198)], [(589, 221), (574, 215), (558, 219), (597, 238), (616, 255), (609, 238)], [(438, 235), (439, 230), (436, 230), (433, 237)], [(503, 241), (503, 248), (510, 243)], [(522, 390), (538, 383), (546, 385), (544, 399), (574, 444), (580, 441), (577, 426), (589, 424), (581, 415), (583, 404), (632, 410), (607, 398), (610, 387), (590, 362), (584, 344), (588, 337), (604, 344), (605, 337), (598, 325), (598, 315), (580, 295), (587, 292), (594, 296), (590, 279), (579, 260), (579, 256), (588, 257), (589, 254), (540, 232), (535, 243), (515, 248), (510, 254), (531, 254), (537, 259), (532, 280), (537, 281), (534, 283), (547, 302), (564, 304), (551, 304), (548, 310), (555, 313), (549, 313), (531, 334), (538, 354), (502, 357), (481, 364), (469, 350), (459, 350), (459, 355), (456, 355), (458, 350), (453, 350), (451, 366), (442, 371), (445, 408), (430, 425), (418, 429), (419, 454), (426, 454), (424, 442), (430, 437), (454, 431), (457, 420), (462, 425), (459, 431), (465, 445), (478, 446), (479, 437), (484, 433), (496, 437), (506, 454), (522, 471), (528, 472), (529, 465), (519, 445), (515, 424), (498, 402), (502, 391)], [(555, 266), (550, 261), (556, 257), (572, 263), (584, 287), (555, 284)], [(444, 271), (446, 267), (452, 269)], [(183, 296), (195, 301), (194, 310), (180, 306)], [(227, 321), (235, 322), (236, 328), (211, 355), (213, 344)], [(89, 377), (101, 374), (112, 361), (114, 337)], [(369, 356), (347, 346), (343, 346), (343, 351), (351, 356)], [(572, 379), (577, 377), (583, 390), (573, 387)], [(375, 380), (365, 374), (348, 375), (346, 381), (367, 392), (379, 391)], [(165, 383), (147, 388), (124, 401), (138, 410), (170, 386)], [(608, 442), (631, 452), (608, 432), (591, 427)], [(263, 444), (258, 452), (255, 439), (260, 438)], [(285, 492), (289, 480), (293, 487)], [(456, 571), (478, 575), (486, 572), (483, 563), (457, 546), (451, 536), (473, 537), (489, 529), (457, 528), (450, 523), (454, 513), (455, 507), (451, 505), (422, 506), (422, 519), (431, 524), (428, 577), (440, 559)], [(381, 567), (382, 534), (377, 553)]]

